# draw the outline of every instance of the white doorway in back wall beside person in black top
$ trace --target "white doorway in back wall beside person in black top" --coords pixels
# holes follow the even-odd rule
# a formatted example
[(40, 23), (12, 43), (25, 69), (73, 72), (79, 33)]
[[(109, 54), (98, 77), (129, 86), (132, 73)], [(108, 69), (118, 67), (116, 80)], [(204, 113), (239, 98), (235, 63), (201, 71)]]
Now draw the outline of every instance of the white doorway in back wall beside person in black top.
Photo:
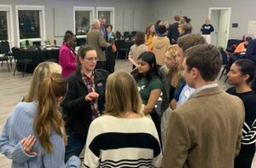
[(209, 18), (214, 27), (211, 43), (216, 46), (227, 47), (230, 35), (230, 15), (231, 8), (210, 8)]

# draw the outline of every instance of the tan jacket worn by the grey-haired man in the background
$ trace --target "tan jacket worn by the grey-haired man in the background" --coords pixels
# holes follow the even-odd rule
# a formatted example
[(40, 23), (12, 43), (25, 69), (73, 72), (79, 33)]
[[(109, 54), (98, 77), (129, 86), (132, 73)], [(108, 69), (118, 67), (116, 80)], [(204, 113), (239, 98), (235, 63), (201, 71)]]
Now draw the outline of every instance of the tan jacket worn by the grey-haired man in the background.
[(86, 34), (86, 44), (92, 45), (96, 49), (99, 61), (107, 61), (104, 48), (107, 48), (110, 43), (105, 41), (99, 30), (92, 29)]

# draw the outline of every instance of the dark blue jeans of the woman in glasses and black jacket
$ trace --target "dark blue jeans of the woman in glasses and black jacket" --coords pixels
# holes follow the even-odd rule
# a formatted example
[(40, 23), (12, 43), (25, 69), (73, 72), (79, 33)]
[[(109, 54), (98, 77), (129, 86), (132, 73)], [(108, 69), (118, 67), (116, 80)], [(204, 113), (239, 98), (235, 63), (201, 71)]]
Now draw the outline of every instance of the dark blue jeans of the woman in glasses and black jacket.
[(79, 157), (86, 142), (86, 136), (79, 136), (74, 132), (67, 132), (67, 147), (65, 151), (65, 163), (75, 155)]

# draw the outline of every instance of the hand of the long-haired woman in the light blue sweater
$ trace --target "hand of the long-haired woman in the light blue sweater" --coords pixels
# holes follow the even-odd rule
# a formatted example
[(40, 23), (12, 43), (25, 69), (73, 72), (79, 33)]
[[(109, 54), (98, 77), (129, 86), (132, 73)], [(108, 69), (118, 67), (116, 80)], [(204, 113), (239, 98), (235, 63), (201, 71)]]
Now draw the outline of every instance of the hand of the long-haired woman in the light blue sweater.
[(35, 155), (35, 156), (38, 155), (38, 153), (36, 153), (35, 151), (32, 151), (32, 146), (35, 144), (36, 141), (37, 141), (37, 138), (35, 138), (35, 136), (27, 136), (20, 141), (23, 147), (23, 150), (26, 152), (26, 154)]

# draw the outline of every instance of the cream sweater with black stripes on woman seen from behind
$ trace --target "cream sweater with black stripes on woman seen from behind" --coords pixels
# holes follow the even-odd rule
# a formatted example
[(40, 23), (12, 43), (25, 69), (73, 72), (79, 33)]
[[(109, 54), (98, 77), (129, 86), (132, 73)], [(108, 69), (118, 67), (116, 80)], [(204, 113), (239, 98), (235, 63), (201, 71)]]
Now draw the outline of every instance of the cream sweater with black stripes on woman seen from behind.
[(159, 137), (148, 118), (104, 115), (90, 125), (84, 167), (160, 167), (161, 159)]

